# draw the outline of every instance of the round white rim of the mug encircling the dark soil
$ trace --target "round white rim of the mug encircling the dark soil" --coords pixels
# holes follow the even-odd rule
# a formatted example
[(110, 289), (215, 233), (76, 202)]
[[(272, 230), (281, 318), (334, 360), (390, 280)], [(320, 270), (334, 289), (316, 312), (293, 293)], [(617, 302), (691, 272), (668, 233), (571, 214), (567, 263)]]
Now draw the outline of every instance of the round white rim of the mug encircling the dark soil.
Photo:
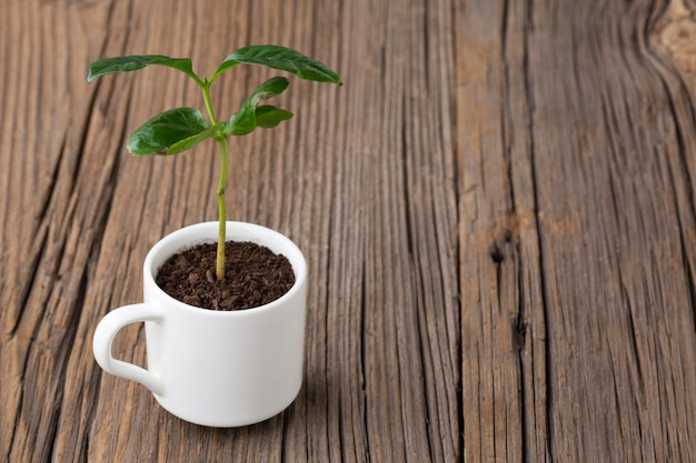
[[(187, 304), (186, 302), (179, 301), (178, 299), (175, 299), (171, 295), (167, 294), (155, 281), (155, 275), (159, 271), (159, 268), (153, 269), (155, 260), (158, 258), (161, 258), (161, 253), (169, 251), (161, 262), (161, 264), (163, 264), (163, 262), (167, 259), (175, 255), (177, 252), (181, 250), (191, 248), (197, 244), (217, 242), (218, 227), (219, 227), (219, 222), (217, 221), (200, 222), (200, 223), (196, 223), (192, 225), (180, 228), (165, 235), (163, 238), (161, 238), (157, 243), (155, 243), (155, 245), (152, 245), (152, 248), (150, 248), (150, 251), (148, 252), (145, 259), (145, 263), (143, 263), (145, 284), (148, 284), (151, 290), (157, 291), (159, 293), (159, 296), (163, 298), (168, 302), (168, 304), (171, 304), (172, 308), (177, 308), (179, 310), (185, 310), (185, 311), (196, 311), (197, 313), (200, 313), (201, 316), (237, 316), (237, 318), (252, 316), (261, 312), (274, 310), (278, 305), (282, 305), (284, 303), (286, 303), (286, 301), (295, 298), (295, 295), (298, 292), (300, 292), (301, 289), (305, 286), (305, 282), (307, 280), (307, 261), (301, 250), (299, 249), (299, 246), (295, 244), (292, 240), (290, 240), (285, 234), (276, 230), (269, 229), (267, 227), (264, 227), (264, 225), (259, 225), (259, 224), (250, 223), (250, 222), (227, 221), (227, 234), (228, 234), (227, 239), (228, 240), (230, 240), (230, 236), (229, 236), (230, 232), (233, 232), (235, 230), (242, 230), (248, 233), (257, 232), (261, 234), (262, 236), (259, 241), (252, 241), (251, 239), (248, 241), (255, 242), (256, 244), (260, 244), (264, 246), (268, 246), (268, 244), (266, 244), (266, 241), (268, 241), (268, 239), (278, 240), (278, 242), (281, 243), (282, 251), (272, 250), (272, 249), (271, 251), (277, 254), (285, 255), (285, 258), (288, 259), (288, 261), (290, 262), (290, 265), (292, 266), (292, 272), (295, 273), (295, 283), (292, 284), (292, 286), (284, 295), (276, 299), (275, 301), (268, 302), (264, 305), (258, 305), (258, 306), (248, 308), (248, 309), (232, 310), (232, 311), (215, 310), (212, 308), (199, 308), (199, 306), (190, 305), (190, 304)], [(206, 232), (211, 229), (213, 230), (215, 233), (212, 235), (212, 239), (209, 239), (208, 233)], [(187, 236), (189, 235), (195, 236), (196, 235), (195, 232), (199, 232), (200, 235), (198, 238), (187, 239)], [(177, 244), (178, 241), (181, 241), (181, 242)], [(235, 241), (233, 238), (230, 241)], [(173, 249), (170, 249), (170, 248), (173, 248)]]

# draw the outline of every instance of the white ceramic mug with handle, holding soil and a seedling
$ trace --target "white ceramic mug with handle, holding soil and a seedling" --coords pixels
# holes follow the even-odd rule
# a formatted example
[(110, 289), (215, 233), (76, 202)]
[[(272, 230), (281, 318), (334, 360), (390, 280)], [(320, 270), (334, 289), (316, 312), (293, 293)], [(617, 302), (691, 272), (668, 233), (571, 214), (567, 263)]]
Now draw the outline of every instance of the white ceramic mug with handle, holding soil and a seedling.
[[(95, 359), (108, 373), (148, 387), (170, 413), (207, 426), (242, 426), (285, 410), (302, 383), (307, 264), (285, 235), (250, 223), (227, 222), (227, 240), (250, 241), (285, 255), (295, 284), (253, 309), (223, 312), (179, 302), (156, 283), (158, 269), (178, 251), (215, 242), (218, 222), (180, 229), (160, 240), (143, 266), (143, 303), (109, 312), (97, 326)], [(117, 360), (118, 331), (145, 322), (148, 366)]]

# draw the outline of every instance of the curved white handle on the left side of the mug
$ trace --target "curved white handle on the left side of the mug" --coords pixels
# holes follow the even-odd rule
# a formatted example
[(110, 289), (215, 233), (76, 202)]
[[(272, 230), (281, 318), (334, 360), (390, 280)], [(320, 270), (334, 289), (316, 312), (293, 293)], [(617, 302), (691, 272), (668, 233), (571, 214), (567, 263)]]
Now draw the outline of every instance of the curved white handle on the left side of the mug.
[(156, 394), (163, 392), (163, 384), (157, 373), (111, 355), (113, 338), (123, 326), (137, 322), (161, 322), (162, 314), (155, 306), (140, 303), (118, 308), (105, 315), (97, 325), (92, 350), (99, 366), (115, 376), (136, 381)]

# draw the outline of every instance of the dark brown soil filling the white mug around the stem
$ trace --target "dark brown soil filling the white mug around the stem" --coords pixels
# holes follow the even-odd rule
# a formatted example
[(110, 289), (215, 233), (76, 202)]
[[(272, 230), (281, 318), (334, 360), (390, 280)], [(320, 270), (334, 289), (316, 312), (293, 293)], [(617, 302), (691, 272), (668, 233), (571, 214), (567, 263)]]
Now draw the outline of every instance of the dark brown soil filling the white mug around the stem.
[(199, 244), (169, 258), (159, 269), (157, 284), (172, 298), (202, 309), (242, 310), (267, 304), (295, 284), (285, 255), (250, 242), (228, 241), (226, 274), (215, 275), (217, 244)]

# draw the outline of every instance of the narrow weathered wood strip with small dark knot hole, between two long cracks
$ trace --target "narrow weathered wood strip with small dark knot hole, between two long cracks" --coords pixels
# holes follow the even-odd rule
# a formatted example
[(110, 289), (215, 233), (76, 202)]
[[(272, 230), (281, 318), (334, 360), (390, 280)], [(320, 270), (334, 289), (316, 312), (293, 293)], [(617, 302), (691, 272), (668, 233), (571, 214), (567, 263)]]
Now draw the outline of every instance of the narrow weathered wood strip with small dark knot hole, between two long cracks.
[(457, 133), (467, 461), (548, 460), (547, 320), (526, 76), (529, 4), (459, 14)]

